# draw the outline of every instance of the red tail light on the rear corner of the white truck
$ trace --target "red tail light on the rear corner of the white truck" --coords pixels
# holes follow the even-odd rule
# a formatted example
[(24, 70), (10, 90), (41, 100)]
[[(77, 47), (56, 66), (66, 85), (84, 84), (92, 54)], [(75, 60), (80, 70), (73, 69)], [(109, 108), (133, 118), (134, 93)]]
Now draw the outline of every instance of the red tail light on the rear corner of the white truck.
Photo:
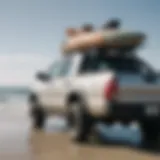
[(106, 83), (104, 88), (104, 97), (108, 100), (112, 100), (118, 93), (117, 79), (111, 79)]

